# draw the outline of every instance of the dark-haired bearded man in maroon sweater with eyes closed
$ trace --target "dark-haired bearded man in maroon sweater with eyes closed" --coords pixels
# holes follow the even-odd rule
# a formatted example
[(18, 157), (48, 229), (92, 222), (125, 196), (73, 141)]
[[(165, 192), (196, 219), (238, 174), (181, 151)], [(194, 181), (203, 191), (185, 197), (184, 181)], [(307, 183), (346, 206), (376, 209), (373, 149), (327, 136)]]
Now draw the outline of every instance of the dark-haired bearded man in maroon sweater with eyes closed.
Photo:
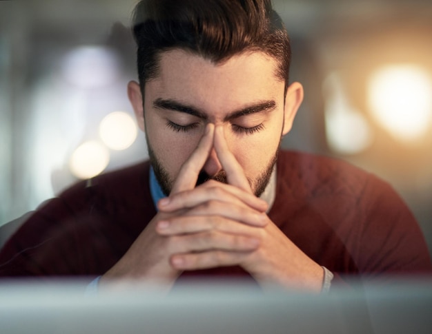
[(431, 270), (388, 185), (279, 152), (303, 90), (288, 84), (288, 35), (270, 1), (143, 0), (134, 35), (139, 83), (128, 96), (150, 163), (81, 182), (37, 210), (1, 252), (2, 275), (168, 288), (180, 276), (234, 275), (320, 292), (333, 275)]

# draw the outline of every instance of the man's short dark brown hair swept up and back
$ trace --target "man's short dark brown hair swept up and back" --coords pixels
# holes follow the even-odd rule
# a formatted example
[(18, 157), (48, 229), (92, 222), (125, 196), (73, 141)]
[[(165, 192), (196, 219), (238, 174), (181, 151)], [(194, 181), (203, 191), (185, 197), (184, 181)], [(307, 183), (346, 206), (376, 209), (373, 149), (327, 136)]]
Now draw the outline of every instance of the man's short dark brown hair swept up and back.
[(246, 51), (278, 62), (277, 77), (288, 87), (291, 47), (271, 0), (141, 0), (133, 34), (141, 90), (157, 76), (161, 52), (180, 48), (215, 63)]

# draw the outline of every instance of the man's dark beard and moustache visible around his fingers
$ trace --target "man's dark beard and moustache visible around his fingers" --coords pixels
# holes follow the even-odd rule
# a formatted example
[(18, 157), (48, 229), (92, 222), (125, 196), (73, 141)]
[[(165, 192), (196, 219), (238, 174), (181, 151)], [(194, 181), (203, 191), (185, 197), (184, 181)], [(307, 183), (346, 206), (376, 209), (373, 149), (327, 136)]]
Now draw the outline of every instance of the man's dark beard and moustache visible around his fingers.
[[(166, 171), (165, 167), (161, 164), (160, 160), (155, 155), (155, 152), (153, 151), (153, 148), (151, 147), (148, 139), (147, 139), (147, 148), (148, 148), (148, 156), (150, 158), (150, 164), (152, 165), (153, 170), (155, 171), (157, 182), (159, 182), (159, 185), (161, 186), (161, 189), (164, 192), (165, 196), (168, 196), (171, 192), (175, 180), (172, 180), (170, 178), (168, 171)], [(273, 169), (277, 161), (278, 153), (279, 153), (279, 145), (278, 145), (278, 149), (276, 150), (275, 154), (271, 158), (270, 162), (267, 164), (264, 171), (262, 171), (262, 173), (259, 174), (255, 182), (253, 182), (253, 180), (248, 178), (249, 185), (251, 186), (251, 189), (253, 190), (255, 196), (257, 197), (261, 196), (261, 194), (266, 189), (268, 182), (270, 181), (271, 174), (273, 173)], [(195, 187), (202, 185), (204, 182), (208, 180), (216, 180), (218, 182), (228, 184), (225, 171), (219, 171), (219, 173), (216, 174), (215, 176), (209, 176), (206, 173), (206, 171), (202, 170), (198, 175), (197, 184), (195, 185)]]

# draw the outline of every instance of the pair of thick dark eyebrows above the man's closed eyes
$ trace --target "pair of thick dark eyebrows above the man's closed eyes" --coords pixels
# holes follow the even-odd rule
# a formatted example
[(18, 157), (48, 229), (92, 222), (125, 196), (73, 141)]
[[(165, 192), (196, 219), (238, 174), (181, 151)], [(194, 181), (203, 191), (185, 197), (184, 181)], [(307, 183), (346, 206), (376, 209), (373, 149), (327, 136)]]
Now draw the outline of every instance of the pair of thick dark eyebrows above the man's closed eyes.
[[(191, 105), (184, 105), (183, 103), (177, 102), (170, 98), (157, 98), (155, 101), (153, 101), (153, 107), (155, 107), (156, 109), (166, 109), (173, 110), (175, 112), (184, 112), (185, 114), (201, 118), (204, 121), (208, 120), (208, 116), (196, 107), (193, 107)], [(258, 103), (255, 103), (254, 105), (249, 105), (242, 109), (231, 112), (224, 117), (224, 121), (232, 121), (235, 118), (239, 118), (249, 114), (256, 114), (258, 112), (271, 112), (274, 109), (276, 109), (275, 101), (260, 101)]]

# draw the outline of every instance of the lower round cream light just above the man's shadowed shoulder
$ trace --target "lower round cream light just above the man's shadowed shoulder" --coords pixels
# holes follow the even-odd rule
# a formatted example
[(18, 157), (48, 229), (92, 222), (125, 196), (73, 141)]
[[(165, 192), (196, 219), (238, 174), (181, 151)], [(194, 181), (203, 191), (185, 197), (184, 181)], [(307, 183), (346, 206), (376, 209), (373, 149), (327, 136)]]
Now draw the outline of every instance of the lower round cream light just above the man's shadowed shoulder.
[(70, 157), (71, 173), (77, 178), (92, 178), (104, 171), (110, 161), (110, 153), (96, 141), (81, 144)]

